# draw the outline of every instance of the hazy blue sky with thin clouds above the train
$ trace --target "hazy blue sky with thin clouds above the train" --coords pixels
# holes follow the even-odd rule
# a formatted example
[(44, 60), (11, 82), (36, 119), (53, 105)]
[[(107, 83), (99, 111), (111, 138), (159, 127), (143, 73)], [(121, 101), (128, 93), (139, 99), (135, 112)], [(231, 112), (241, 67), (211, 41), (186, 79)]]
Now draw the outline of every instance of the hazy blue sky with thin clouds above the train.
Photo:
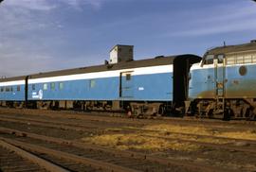
[(102, 64), (118, 43), (140, 60), (252, 39), (251, 0), (5, 0), (0, 77)]

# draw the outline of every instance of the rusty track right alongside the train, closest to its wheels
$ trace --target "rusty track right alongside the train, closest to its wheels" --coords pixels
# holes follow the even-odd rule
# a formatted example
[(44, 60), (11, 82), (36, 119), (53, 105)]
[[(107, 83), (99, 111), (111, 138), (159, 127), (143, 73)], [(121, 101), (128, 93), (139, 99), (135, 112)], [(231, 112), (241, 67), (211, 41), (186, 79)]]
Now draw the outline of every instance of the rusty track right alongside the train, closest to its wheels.
[[(29, 110), (29, 109), (23, 109), (17, 111), (16, 109), (3, 109), (0, 108), (1, 112), (4, 113), (10, 113), (10, 114), (28, 114), (28, 115), (42, 115), (42, 116), (48, 116), (48, 117), (66, 117), (70, 119), (82, 119), (82, 120), (91, 120), (91, 121), (102, 121), (102, 122), (115, 122), (118, 121), (118, 123), (125, 123), (131, 124), (131, 125), (144, 125), (145, 123), (154, 123), (154, 124), (162, 124), (168, 121), (169, 123), (184, 123), (184, 124), (194, 124), (198, 125), (204, 124), (206, 126), (223, 126), (223, 125), (234, 125), (239, 128), (243, 128), (245, 125), (247, 127), (256, 127), (256, 121), (247, 121), (247, 120), (231, 120), (231, 121), (221, 121), (217, 119), (208, 119), (208, 118), (196, 118), (196, 117), (190, 117), (186, 116), (184, 118), (175, 118), (175, 117), (155, 117), (155, 120), (152, 119), (142, 119), (142, 120), (130, 120), (127, 121), (127, 119), (123, 119), (120, 117), (110, 117), (112, 116), (112, 113), (109, 112), (101, 112), (101, 115), (99, 115), (99, 112), (74, 112), (74, 111), (50, 111), (50, 110)], [(53, 115), (54, 114), (54, 115)], [(123, 115), (122, 115), (123, 116)], [(113, 120), (114, 119), (114, 120)], [(116, 120), (115, 120), (116, 119)]]

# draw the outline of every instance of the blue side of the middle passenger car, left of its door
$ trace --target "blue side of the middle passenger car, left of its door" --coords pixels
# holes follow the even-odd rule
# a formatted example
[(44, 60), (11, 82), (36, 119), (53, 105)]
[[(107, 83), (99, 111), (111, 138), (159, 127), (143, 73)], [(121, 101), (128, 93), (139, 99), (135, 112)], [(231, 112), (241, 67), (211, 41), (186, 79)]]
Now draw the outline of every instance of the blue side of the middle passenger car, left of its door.
[(35, 84), (35, 90), (32, 90), (32, 84), (28, 85), (28, 99), (39, 99), (38, 93), (43, 91), (42, 100), (110, 100), (119, 95), (119, 90), (115, 89), (119, 85), (119, 79), (108, 77), (93, 79), (95, 84), (90, 87), (91, 79), (64, 81), (64, 88), (59, 87), (60, 82), (54, 82), (55, 88), (50, 88), (47, 83), (47, 89), (44, 90), (44, 84)]

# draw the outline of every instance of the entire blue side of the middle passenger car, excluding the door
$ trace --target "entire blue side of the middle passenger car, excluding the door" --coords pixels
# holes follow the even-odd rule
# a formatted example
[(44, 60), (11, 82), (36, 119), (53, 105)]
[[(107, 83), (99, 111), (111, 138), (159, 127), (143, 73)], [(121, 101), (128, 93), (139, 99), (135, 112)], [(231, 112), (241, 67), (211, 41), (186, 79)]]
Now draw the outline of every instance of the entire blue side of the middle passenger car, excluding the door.
[(35, 84), (34, 90), (29, 84), (28, 100), (173, 100), (173, 74), (140, 75), (132, 76), (131, 79), (132, 96), (120, 96), (119, 77), (104, 77), (63, 81), (62, 90), (59, 88), (60, 82), (55, 82), (54, 90), (51, 90), (50, 83), (47, 83), (47, 90), (43, 88), (44, 83)]

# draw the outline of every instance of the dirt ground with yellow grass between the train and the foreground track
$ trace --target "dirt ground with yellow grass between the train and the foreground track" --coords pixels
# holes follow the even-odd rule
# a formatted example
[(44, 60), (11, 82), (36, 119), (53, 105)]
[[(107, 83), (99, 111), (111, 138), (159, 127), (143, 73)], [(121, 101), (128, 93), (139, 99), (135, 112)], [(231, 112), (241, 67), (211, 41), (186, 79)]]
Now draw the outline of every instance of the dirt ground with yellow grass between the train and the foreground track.
[[(6, 110), (1, 111), (6, 116)], [(76, 140), (82, 143), (143, 152), (149, 155), (178, 160), (184, 163), (200, 163), (212, 168), (221, 167), (234, 171), (256, 171), (256, 127), (247, 124), (212, 122), (180, 122), (168, 120), (129, 119), (120, 117), (91, 116), (51, 112), (13, 113), (11, 117), (27, 117), (48, 120), (52, 124), (83, 126), (86, 131), (37, 127), (32, 123), (19, 124), (0, 120), (0, 127), (20, 129)], [(41, 115), (42, 114), (42, 115)], [(70, 117), (72, 116), (72, 118)], [(21, 119), (21, 121), (24, 119)], [(90, 132), (91, 129), (91, 132)], [(88, 131), (89, 130), (89, 131)]]

